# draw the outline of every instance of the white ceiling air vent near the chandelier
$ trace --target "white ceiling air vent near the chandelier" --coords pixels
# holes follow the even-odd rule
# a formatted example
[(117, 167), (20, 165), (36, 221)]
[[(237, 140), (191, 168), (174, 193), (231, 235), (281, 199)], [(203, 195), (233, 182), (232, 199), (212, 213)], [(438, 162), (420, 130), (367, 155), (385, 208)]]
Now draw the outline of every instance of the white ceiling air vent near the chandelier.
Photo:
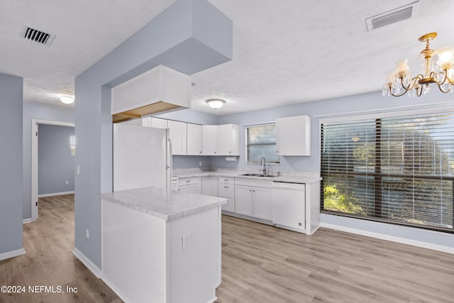
[(392, 23), (404, 21), (409, 18), (413, 18), (419, 11), (419, 1), (407, 4), (406, 6), (399, 7), (399, 9), (393, 9), (386, 13), (380, 13), (380, 15), (366, 18), (367, 31), (372, 31), (382, 26), (388, 26)]

